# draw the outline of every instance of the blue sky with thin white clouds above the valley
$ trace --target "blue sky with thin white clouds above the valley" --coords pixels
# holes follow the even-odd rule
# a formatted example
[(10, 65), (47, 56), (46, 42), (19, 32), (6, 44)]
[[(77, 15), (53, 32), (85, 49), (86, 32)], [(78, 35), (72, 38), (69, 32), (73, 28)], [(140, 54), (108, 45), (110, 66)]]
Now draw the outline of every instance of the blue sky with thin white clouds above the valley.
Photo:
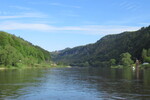
[(46, 50), (150, 25), (150, 0), (0, 0), (0, 30)]

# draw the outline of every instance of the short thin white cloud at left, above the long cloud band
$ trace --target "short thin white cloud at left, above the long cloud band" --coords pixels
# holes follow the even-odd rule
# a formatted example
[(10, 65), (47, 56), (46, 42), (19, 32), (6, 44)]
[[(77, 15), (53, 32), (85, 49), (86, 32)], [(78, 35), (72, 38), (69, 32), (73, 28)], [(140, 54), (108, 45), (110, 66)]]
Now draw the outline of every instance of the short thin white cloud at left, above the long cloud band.
[(19, 15), (7, 15), (7, 16), (0, 16), (0, 19), (16, 19), (16, 18), (45, 18), (46, 15), (42, 13), (22, 13)]

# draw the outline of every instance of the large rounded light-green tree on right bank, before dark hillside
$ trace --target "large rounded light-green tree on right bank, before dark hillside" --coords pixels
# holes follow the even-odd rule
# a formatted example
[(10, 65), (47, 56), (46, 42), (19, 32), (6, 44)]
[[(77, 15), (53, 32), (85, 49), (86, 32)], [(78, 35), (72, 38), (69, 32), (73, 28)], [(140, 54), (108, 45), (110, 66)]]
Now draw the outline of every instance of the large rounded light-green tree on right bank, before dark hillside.
[(121, 64), (122, 65), (129, 66), (134, 63), (133, 60), (131, 59), (130, 53), (128, 53), (128, 52), (122, 53), (120, 56), (121, 56)]

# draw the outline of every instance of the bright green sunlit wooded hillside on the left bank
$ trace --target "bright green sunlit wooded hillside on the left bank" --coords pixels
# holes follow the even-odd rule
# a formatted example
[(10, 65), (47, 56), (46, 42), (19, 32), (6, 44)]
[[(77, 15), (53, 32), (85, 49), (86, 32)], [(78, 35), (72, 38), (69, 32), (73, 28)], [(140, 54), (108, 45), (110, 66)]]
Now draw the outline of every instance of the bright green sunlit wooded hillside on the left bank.
[(0, 31), (0, 66), (21, 67), (50, 62), (50, 53), (20, 37)]

